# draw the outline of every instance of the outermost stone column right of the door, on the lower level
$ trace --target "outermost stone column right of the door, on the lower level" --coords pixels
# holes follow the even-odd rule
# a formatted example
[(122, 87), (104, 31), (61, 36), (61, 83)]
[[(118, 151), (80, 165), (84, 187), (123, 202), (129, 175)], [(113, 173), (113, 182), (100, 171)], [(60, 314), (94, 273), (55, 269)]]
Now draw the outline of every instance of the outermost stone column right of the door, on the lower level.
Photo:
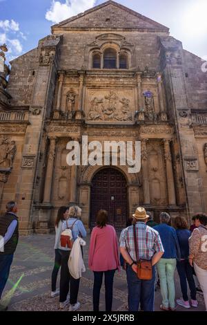
[(166, 178), (167, 178), (167, 187), (168, 187), (168, 204), (176, 205), (175, 197), (175, 180), (173, 177), (172, 170), (172, 156), (170, 153), (170, 141), (164, 139), (164, 159), (166, 162)]

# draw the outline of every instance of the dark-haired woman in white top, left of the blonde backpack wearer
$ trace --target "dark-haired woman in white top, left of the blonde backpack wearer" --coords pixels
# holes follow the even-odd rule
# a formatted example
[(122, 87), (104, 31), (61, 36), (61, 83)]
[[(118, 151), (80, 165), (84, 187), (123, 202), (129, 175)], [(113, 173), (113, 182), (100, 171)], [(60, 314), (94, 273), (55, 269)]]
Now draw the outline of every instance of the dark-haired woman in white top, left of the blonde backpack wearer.
[(61, 267), (61, 252), (65, 250), (61, 247), (60, 237), (62, 232), (63, 221), (68, 219), (68, 207), (60, 207), (57, 212), (57, 218), (55, 220), (55, 265), (52, 270), (52, 292), (51, 297), (54, 298), (59, 295), (59, 289), (56, 289), (57, 275), (59, 268)]

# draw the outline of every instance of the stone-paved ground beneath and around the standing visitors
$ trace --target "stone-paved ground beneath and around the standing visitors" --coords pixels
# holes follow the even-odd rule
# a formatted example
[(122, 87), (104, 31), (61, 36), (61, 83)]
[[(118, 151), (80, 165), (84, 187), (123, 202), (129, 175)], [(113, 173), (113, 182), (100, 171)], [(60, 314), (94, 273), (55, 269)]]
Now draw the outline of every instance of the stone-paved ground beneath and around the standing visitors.
[[(92, 310), (92, 284), (93, 274), (88, 270), (88, 242), (83, 249), (86, 272), (81, 278), (79, 301), (80, 311)], [(18, 311), (55, 311), (58, 310), (59, 298), (50, 297), (50, 277), (54, 263), (55, 235), (31, 235), (20, 238), (17, 252), (14, 256), (8, 284), (3, 293), (3, 300), (9, 301), (9, 309)], [(58, 279), (59, 281), (59, 279)], [(179, 278), (175, 274), (176, 299), (181, 297)], [(114, 284), (113, 310), (127, 310), (127, 286), (126, 273), (124, 270), (116, 272)], [(197, 295), (198, 308), (186, 310), (177, 306), (182, 311), (203, 311), (204, 299)], [(161, 304), (160, 291), (155, 293), (155, 310), (159, 310)], [(100, 310), (105, 308), (104, 286), (101, 289)]]

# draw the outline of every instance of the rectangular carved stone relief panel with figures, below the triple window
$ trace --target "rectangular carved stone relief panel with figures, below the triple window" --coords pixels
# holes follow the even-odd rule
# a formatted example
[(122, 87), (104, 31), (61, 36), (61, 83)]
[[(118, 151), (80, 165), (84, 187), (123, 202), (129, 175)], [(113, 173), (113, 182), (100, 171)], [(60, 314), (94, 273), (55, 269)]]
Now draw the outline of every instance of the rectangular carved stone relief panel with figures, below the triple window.
[(132, 124), (135, 116), (133, 89), (86, 89), (86, 121)]

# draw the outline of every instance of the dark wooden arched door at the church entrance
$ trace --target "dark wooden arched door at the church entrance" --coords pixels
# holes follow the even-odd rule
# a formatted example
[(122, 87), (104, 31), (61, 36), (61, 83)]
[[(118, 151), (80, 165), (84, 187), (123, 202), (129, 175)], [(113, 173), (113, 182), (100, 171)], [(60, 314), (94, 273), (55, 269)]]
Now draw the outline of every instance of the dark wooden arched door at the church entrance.
[(108, 212), (108, 221), (116, 229), (126, 227), (128, 219), (126, 178), (117, 169), (101, 169), (92, 179), (90, 228), (96, 225), (95, 219), (100, 209)]

